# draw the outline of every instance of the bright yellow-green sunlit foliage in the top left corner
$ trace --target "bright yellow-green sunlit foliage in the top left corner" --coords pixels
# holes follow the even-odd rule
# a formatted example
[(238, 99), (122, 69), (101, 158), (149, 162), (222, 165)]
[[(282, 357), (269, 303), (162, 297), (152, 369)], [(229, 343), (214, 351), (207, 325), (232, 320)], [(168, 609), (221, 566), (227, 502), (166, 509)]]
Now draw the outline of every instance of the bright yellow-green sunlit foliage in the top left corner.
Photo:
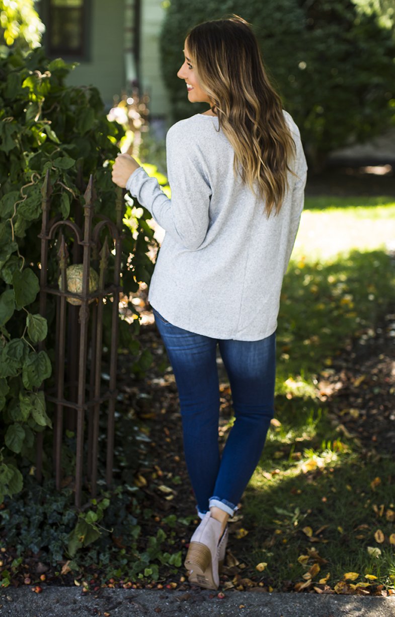
[(34, 4), (34, 0), (0, 0), (0, 46), (25, 50), (40, 46), (45, 28)]

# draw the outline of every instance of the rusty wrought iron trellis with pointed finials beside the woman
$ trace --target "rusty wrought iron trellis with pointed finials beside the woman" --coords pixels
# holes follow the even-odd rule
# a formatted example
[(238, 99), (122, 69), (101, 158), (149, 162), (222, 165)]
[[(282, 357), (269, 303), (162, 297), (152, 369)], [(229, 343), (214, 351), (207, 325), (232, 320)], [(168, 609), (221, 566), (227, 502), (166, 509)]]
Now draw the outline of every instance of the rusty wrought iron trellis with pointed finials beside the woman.
[[(41, 280), (40, 313), (46, 317), (47, 297), (55, 296), (55, 363), (54, 387), (46, 391), (46, 400), (54, 404), (54, 470), (57, 489), (62, 486), (62, 442), (64, 429), (72, 429), (76, 435), (75, 451), (75, 505), (81, 507), (84, 478), (91, 487), (91, 496), (97, 495), (99, 461), (99, 420), (103, 404), (107, 410), (107, 455), (105, 482), (110, 486), (113, 474), (114, 428), (116, 391), (116, 363), (118, 346), (118, 300), (120, 297), (121, 226), (123, 198), (121, 191), (116, 197), (116, 223), (98, 215), (94, 225), (96, 193), (91, 176), (84, 193), (84, 205), (75, 204), (75, 220), (61, 220), (58, 215), (49, 220), (52, 187), (47, 172), (42, 194)], [(84, 218), (84, 221), (83, 221)], [(66, 237), (65, 237), (66, 234)], [(68, 234), (68, 235), (67, 235)], [(102, 237), (104, 236), (104, 241)], [(112, 281), (109, 278), (110, 247), (113, 242)], [(68, 245), (72, 244), (71, 255)], [(48, 282), (49, 250), (57, 249), (60, 284)], [(73, 293), (67, 289), (67, 264), (83, 264), (82, 289)], [(89, 292), (90, 269), (99, 269), (99, 285)], [(56, 277), (56, 282), (58, 276)], [(78, 305), (70, 304), (75, 299)], [(104, 310), (111, 310), (111, 341), (109, 347), (110, 369), (108, 385), (102, 383), (102, 347)], [(111, 306), (111, 308), (110, 308)], [(44, 343), (41, 343), (43, 347)], [(89, 365), (89, 366), (88, 366)], [(89, 376), (89, 383), (88, 383)], [(88, 461), (84, 465), (84, 428), (88, 423)], [(43, 433), (39, 434), (36, 454), (36, 477), (43, 475)]]

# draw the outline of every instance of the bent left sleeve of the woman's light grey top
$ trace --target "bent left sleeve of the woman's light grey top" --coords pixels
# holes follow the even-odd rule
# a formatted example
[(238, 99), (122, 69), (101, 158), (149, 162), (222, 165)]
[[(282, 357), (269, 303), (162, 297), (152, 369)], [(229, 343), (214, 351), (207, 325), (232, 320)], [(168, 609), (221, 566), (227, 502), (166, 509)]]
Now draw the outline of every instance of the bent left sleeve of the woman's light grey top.
[(198, 145), (191, 143), (184, 127), (174, 125), (166, 137), (171, 200), (155, 178), (144, 169), (132, 173), (126, 188), (152, 214), (157, 223), (190, 251), (200, 247), (210, 223), (211, 188)]

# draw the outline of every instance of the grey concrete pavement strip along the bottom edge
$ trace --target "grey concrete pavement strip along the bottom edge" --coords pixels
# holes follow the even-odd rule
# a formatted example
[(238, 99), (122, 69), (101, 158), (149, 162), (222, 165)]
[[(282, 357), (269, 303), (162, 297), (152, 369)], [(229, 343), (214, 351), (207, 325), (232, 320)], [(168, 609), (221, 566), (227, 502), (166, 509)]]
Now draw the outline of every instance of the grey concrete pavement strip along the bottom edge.
[[(211, 596), (211, 597), (210, 597)], [(395, 597), (30, 587), (0, 592), (1, 617), (395, 617)]]

